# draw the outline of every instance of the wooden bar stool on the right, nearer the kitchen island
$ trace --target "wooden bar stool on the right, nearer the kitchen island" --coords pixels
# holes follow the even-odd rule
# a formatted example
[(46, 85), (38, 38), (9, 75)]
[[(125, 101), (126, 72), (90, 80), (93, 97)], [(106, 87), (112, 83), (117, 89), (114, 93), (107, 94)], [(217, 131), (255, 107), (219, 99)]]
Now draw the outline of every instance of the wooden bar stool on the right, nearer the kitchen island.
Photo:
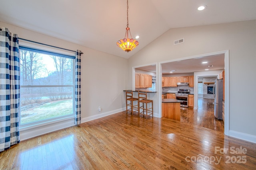
[[(139, 116), (141, 114), (143, 116), (146, 115), (146, 119), (148, 118), (149, 115), (152, 115), (153, 117), (153, 100), (148, 100), (147, 92), (138, 92), (138, 98), (139, 98)], [(140, 103), (142, 103), (142, 106), (140, 105)], [(150, 103), (151, 103), (151, 107), (150, 105), (148, 106), (148, 104)], [(142, 109), (142, 112), (140, 112), (141, 109)], [(146, 112), (146, 114), (144, 114), (144, 112)]]

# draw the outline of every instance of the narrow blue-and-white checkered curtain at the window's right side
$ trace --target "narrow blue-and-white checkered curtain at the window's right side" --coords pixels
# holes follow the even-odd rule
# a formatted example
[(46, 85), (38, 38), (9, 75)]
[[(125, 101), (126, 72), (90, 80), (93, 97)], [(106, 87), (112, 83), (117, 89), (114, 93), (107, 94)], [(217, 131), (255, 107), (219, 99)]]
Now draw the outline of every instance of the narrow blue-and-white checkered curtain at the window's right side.
[(81, 123), (81, 51), (76, 50), (76, 115), (75, 124)]

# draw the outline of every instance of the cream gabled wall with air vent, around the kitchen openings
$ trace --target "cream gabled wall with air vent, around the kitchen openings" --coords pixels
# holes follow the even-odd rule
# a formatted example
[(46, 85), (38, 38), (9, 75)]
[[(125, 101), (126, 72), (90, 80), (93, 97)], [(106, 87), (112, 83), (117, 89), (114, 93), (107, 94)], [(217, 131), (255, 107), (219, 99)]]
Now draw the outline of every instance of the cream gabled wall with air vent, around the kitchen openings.
[[(184, 43), (174, 46), (174, 40), (180, 38)], [(241, 90), (246, 82), (256, 84), (256, 20), (170, 29), (129, 58), (129, 81), (133, 66), (223, 50), (229, 50), (229, 134), (256, 142), (256, 91), (248, 94)]]

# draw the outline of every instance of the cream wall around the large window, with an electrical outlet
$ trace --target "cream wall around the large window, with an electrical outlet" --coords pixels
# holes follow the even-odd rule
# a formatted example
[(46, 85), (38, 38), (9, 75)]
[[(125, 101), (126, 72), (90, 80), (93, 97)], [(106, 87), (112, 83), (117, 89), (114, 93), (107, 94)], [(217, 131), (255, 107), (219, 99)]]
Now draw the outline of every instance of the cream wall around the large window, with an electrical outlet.
[[(26, 30), (4, 22), (0, 22), (0, 26), (8, 28), (13, 34), (18, 34), (18, 37), (20, 38), (70, 50), (82, 50), (82, 52), (84, 52), (81, 60), (82, 122), (120, 112), (125, 107), (123, 90), (126, 89), (128, 80), (126, 78), (128, 75), (127, 59)], [(98, 111), (98, 106), (101, 106), (101, 112)], [(72, 122), (74, 122), (74, 120)], [(67, 123), (65, 122), (63, 124), (65, 125)], [(60, 128), (61, 127), (50, 129), (53, 131)], [(34, 134), (26, 132), (28, 135), (26, 135), (25, 138), (22, 137), (21, 133), (21, 140), (30, 138), (34, 135), (40, 135), (44, 132), (46, 133), (48, 131), (36, 131)]]

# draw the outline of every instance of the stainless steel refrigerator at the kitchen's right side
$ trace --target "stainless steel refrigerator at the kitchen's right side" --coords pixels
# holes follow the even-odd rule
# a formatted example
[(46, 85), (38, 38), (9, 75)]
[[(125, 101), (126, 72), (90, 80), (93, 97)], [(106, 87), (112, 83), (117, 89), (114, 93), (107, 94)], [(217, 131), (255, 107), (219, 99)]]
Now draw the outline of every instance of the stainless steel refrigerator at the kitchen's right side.
[(222, 100), (223, 100), (223, 80), (216, 79), (213, 88), (214, 94), (214, 116), (216, 119), (222, 118)]

